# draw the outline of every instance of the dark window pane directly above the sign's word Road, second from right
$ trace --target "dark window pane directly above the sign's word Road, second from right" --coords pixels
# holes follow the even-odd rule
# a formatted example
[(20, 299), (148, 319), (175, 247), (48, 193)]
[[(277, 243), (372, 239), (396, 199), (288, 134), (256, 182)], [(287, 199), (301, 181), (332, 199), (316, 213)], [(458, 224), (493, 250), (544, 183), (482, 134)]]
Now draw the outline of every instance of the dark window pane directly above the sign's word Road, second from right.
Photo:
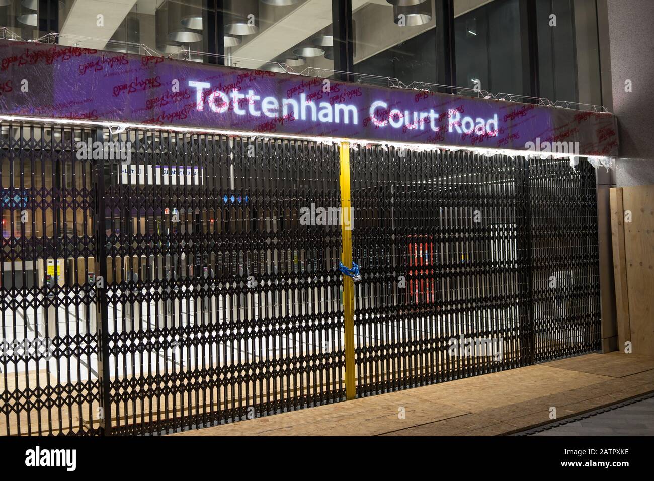
[(523, 79), (520, 9), (519, 0), (455, 0), (457, 86), (529, 94)]

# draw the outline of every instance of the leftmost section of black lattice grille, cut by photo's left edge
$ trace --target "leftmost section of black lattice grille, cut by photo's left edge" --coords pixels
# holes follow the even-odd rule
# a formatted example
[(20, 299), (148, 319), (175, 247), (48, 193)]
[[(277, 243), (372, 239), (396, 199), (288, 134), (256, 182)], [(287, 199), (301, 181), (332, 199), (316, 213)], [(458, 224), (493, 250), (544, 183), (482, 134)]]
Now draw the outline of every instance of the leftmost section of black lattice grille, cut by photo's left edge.
[(89, 130), (3, 122), (0, 433), (88, 435), (99, 401)]

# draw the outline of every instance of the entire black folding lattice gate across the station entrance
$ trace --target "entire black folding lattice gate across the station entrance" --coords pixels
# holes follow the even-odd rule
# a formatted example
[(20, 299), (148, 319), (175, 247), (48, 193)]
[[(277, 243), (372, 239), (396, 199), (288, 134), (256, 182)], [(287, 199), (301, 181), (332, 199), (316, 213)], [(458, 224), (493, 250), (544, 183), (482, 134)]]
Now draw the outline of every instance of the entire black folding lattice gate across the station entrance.
[[(594, 169), (3, 124), (0, 432), (157, 434), (600, 347)], [(101, 362), (99, 362), (99, 359)]]

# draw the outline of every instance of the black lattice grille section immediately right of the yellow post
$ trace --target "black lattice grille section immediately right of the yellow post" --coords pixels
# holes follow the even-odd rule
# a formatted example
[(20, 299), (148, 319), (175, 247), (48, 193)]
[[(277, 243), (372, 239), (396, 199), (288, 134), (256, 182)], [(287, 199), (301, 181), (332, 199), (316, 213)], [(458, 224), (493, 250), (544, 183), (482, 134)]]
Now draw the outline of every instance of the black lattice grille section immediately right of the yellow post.
[(359, 395), (530, 363), (525, 164), (351, 152)]

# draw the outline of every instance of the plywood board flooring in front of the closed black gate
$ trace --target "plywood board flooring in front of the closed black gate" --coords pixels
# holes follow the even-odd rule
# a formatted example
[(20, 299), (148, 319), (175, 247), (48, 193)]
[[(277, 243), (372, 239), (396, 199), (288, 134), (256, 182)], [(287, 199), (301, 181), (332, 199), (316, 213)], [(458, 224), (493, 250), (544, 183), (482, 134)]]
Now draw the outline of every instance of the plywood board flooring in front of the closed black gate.
[(654, 392), (654, 357), (589, 354), (173, 436), (504, 435)]

